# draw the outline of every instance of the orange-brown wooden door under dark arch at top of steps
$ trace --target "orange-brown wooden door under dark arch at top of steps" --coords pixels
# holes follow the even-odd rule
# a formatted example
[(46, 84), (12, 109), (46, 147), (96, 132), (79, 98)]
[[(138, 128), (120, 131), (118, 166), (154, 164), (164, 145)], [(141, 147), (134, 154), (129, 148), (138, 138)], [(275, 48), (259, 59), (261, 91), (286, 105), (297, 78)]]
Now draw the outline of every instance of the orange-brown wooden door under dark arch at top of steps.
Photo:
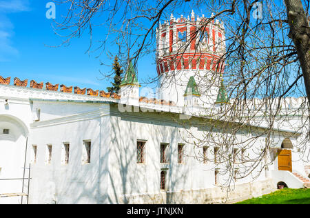
[(292, 172), (291, 150), (293, 143), (290, 139), (284, 139), (281, 144), (281, 149), (278, 150), (278, 170)]

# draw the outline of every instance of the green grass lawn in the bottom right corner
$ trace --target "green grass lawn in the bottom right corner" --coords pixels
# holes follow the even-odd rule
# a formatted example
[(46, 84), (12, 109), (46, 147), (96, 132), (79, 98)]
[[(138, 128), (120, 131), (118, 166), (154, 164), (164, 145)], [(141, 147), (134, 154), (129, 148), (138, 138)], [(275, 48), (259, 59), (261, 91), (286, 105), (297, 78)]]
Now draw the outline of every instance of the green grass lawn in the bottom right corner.
[(269, 195), (262, 195), (236, 204), (310, 204), (310, 189), (285, 188), (272, 192)]

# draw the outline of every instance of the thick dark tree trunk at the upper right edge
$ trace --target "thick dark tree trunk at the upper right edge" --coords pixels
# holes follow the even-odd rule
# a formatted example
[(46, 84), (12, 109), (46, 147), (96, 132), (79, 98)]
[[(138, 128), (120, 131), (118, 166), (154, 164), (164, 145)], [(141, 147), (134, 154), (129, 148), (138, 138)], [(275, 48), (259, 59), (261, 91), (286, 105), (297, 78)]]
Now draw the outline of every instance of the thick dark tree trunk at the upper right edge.
[(301, 0), (285, 0), (289, 21), (289, 37), (293, 40), (304, 77), (307, 97), (310, 103), (310, 29)]

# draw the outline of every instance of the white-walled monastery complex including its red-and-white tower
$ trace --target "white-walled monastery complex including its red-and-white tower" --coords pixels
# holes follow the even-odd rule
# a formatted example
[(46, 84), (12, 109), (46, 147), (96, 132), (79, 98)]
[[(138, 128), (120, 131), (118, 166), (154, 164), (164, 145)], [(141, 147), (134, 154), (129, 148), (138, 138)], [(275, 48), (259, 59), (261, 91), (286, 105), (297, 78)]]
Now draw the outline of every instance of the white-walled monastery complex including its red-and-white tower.
[[(91, 89), (85, 95), (85, 89), (75, 87), (72, 92), (72, 87), (63, 85), (58, 91), (58, 85), (46, 83), (43, 88), (42, 83), (35, 81), (31, 81), (28, 88), (28, 81), (19, 79), (14, 79), (11, 86), (10, 78), (1, 77), (0, 196), (17, 195), (0, 197), (0, 204), (225, 202), (227, 192), (220, 184), (226, 178), (218, 174), (220, 166), (196, 158), (197, 153), (204, 152), (209, 158), (216, 158), (214, 152), (209, 152), (214, 147), (209, 146), (206, 150), (193, 146), (194, 140), (203, 140), (203, 132), (207, 131), (201, 124), (200, 107), (214, 106), (220, 89), (222, 68), (212, 70), (214, 61), (211, 59), (216, 57), (216, 52), (225, 50), (225, 45), (221, 44), (225, 32), (223, 24), (215, 21), (208, 27), (214, 38), (203, 39), (203, 46), (209, 46), (206, 48), (211, 48), (212, 52), (203, 54), (205, 60), (201, 63), (211, 66), (205, 68), (203, 65), (199, 72), (207, 77), (216, 73), (218, 79), (213, 79), (216, 83), (211, 84), (213, 88), (208, 95), (212, 97), (201, 96), (195, 90), (196, 86), (200, 87), (195, 81), (201, 81), (194, 73), (197, 65), (194, 67), (193, 59), (197, 57), (189, 50), (187, 57), (192, 57), (192, 64), (185, 58), (180, 65), (169, 65), (167, 60), (171, 57), (168, 59), (162, 51), (167, 47), (173, 53), (176, 49), (173, 35), (191, 31), (190, 25), (183, 25), (186, 21), (183, 17), (175, 21), (172, 16), (172, 23), (165, 23), (158, 30), (156, 55), (158, 74), (162, 78), (161, 99), (139, 96), (139, 85), (132, 68), (127, 70), (121, 95)], [(190, 21), (196, 22), (194, 13)], [(213, 49), (215, 44), (212, 42), (215, 41), (221, 46)], [(169, 46), (165, 46), (167, 44)], [(195, 42), (193, 46), (197, 44)], [(180, 79), (181, 83), (165, 83), (163, 78), (170, 77), (174, 68), (186, 77)], [(187, 88), (194, 89), (192, 94), (186, 92)], [(191, 105), (194, 110), (185, 107), (189, 104), (188, 95), (197, 97)], [(189, 119), (184, 119), (186, 116)], [(302, 188), (307, 184), (300, 176), (308, 177), (310, 164), (300, 160), (296, 150), (298, 143), (307, 143), (305, 146), (309, 148), (309, 141), (302, 142), (308, 132), (307, 126), (300, 132), (297, 130), (301, 119), (307, 119), (307, 116), (293, 116), (287, 121), (293, 124), (289, 128), (281, 124), (284, 126), (272, 131), (275, 139), (268, 151), (268, 168), (236, 181), (234, 190), (229, 192), (229, 200), (271, 192), (278, 188), (279, 182), (289, 188)], [(291, 128), (294, 125), (296, 129)], [(196, 139), (190, 137), (189, 130)], [(264, 130), (264, 126), (253, 125), (251, 135), (259, 135)], [(249, 132), (238, 134), (240, 139), (247, 137)], [(264, 148), (266, 137), (260, 136), (254, 148)], [(289, 169), (279, 166), (281, 150), (291, 154)], [(244, 155), (251, 157), (254, 151), (245, 150)], [(254, 175), (258, 176), (254, 179)], [(23, 202), (21, 193), (28, 195), (23, 197)]]

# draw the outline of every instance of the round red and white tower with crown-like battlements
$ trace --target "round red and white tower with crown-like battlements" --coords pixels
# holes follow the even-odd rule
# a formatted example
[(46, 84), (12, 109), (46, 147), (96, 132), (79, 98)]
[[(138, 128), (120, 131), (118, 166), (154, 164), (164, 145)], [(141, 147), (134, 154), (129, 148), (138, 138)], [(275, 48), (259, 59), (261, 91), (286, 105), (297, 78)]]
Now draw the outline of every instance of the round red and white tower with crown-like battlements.
[(187, 83), (194, 77), (201, 94), (200, 104), (210, 106), (216, 102), (225, 65), (223, 23), (204, 15), (195, 17), (194, 12), (187, 19), (175, 19), (172, 14), (156, 30), (156, 46), (161, 99), (184, 106)]

